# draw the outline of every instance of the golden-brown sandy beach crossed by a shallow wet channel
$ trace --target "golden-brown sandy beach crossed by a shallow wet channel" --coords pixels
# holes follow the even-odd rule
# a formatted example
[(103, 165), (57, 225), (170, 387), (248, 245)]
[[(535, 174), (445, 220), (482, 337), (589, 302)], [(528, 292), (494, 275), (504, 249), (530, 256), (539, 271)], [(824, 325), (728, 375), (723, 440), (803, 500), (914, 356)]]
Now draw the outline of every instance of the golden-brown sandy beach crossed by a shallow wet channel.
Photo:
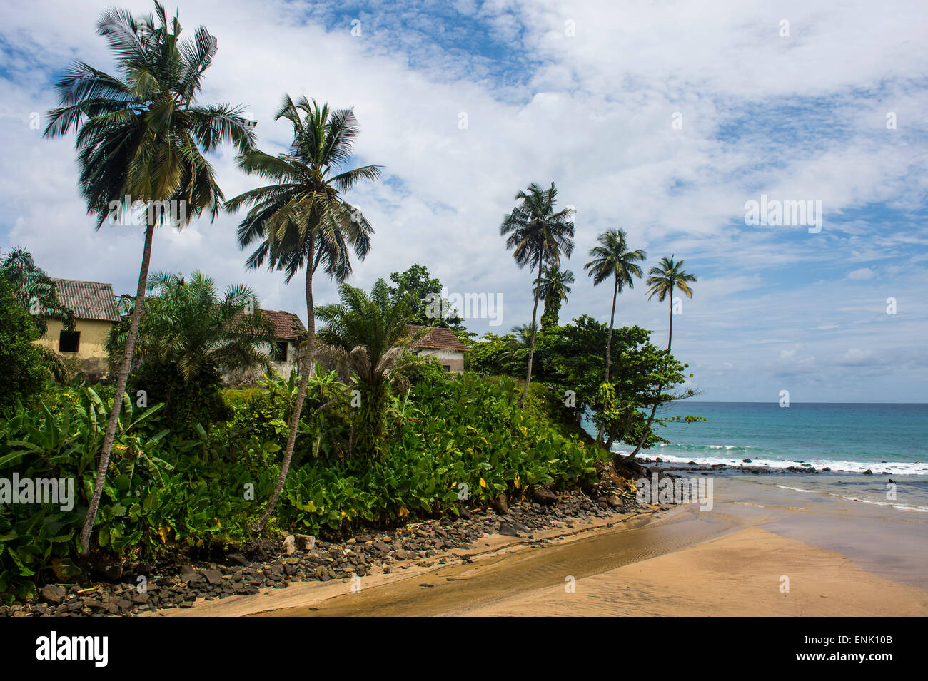
[(355, 591), (350, 580), (294, 584), (163, 615), (928, 614), (925, 514), (798, 506), (798, 493), (743, 477), (716, 490), (708, 512), (681, 505), (534, 541), (492, 536), (446, 564), (371, 574)]

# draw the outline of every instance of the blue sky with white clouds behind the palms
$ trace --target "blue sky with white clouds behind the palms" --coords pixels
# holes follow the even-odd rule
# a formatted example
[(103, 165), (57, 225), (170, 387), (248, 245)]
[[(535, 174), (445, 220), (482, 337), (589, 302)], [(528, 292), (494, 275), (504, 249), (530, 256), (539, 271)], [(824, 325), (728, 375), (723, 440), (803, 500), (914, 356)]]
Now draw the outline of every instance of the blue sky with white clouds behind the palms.
[[(111, 5), (0, 9), (0, 249), (24, 246), (52, 276), (121, 294), (135, 290), (140, 234), (95, 232), (73, 138), (42, 138), (71, 60), (114, 70), (95, 32)], [(674, 351), (703, 399), (775, 402), (785, 389), (793, 402), (928, 401), (924, 0), (176, 8), (187, 32), (202, 24), (218, 39), (200, 101), (248, 107), (265, 151), (290, 140), (273, 120), (285, 93), (354, 106), (355, 164), (385, 167), (348, 197), (376, 229), (354, 284), (418, 262), (449, 292), (502, 296), (501, 325), (471, 320), (471, 331), (528, 322), (533, 275), (513, 264), (498, 226), (517, 191), (553, 181), (576, 208), (567, 267), (577, 282), (561, 319), (608, 322), (612, 292), (583, 265), (598, 233), (623, 227), (648, 267), (673, 254), (699, 277), (675, 317)], [(231, 148), (213, 162), (226, 196), (258, 183)], [(746, 224), (761, 195), (820, 202), (820, 230)], [(301, 284), (244, 269), (236, 224), (224, 215), (161, 230), (152, 270), (200, 269), (251, 284), (266, 308), (304, 310)], [(318, 282), (316, 302), (334, 292)], [(641, 282), (620, 296), (616, 322), (661, 345), (666, 315)]]

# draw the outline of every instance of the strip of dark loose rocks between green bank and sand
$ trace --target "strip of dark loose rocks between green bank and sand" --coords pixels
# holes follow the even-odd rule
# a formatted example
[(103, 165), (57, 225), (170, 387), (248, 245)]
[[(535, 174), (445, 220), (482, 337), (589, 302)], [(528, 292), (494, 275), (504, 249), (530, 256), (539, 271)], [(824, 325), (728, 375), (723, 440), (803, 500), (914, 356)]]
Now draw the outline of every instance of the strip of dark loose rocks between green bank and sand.
[[(363, 577), (373, 567), (384, 573), (422, 564), (448, 549), (477, 549), (483, 537), (534, 538), (537, 530), (559, 523), (625, 513), (639, 508), (631, 491), (610, 471), (597, 486), (555, 492), (536, 489), (531, 498), (505, 495), (483, 508), (460, 508), (460, 516), (425, 519), (390, 530), (360, 530), (354, 536), (317, 539), (290, 535), (238, 547), (222, 560), (119, 568), (108, 581), (46, 584), (31, 602), (0, 606), (0, 615), (128, 616), (168, 608), (190, 608), (198, 599), (256, 594), (265, 587), (286, 588), (296, 581)], [(464, 556), (464, 560), (467, 557)], [(436, 559), (444, 563), (445, 557)]]

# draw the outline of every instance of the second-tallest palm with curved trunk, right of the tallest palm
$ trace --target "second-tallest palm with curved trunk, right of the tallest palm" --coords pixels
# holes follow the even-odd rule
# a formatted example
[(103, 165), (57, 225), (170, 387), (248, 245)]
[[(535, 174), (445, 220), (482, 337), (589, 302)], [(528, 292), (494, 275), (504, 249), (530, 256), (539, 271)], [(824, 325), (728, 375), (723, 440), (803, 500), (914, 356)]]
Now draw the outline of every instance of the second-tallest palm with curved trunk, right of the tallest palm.
[(286, 272), (287, 283), (301, 269), (306, 271), (309, 335), (298, 358), (302, 364), (300, 388), (290, 417), (290, 435), (277, 485), (255, 525), (257, 532), (271, 517), (287, 480), (306, 385), (315, 366), (313, 274), (323, 265), (326, 274), (341, 284), (352, 271), (349, 248), (359, 259), (367, 257), (374, 230), (361, 211), (342, 198), (342, 193), (361, 180), (380, 177), (380, 166), (338, 171), (351, 158), (358, 134), (352, 109), (330, 111), (329, 105), (319, 107), (315, 101), (310, 104), (306, 97), (294, 103), (286, 95), (275, 120), (282, 118), (290, 120), (293, 126), (293, 141), (287, 154), (270, 156), (252, 150), (238, 158), (239, 168), (271, 183), (238, 195), (226, 204), (231, 211), (251, 206), (238, 225), (240, 248), (260, 242), (246, 260), (249, 268), (259, 268), (266, 260), (270, 269)]

